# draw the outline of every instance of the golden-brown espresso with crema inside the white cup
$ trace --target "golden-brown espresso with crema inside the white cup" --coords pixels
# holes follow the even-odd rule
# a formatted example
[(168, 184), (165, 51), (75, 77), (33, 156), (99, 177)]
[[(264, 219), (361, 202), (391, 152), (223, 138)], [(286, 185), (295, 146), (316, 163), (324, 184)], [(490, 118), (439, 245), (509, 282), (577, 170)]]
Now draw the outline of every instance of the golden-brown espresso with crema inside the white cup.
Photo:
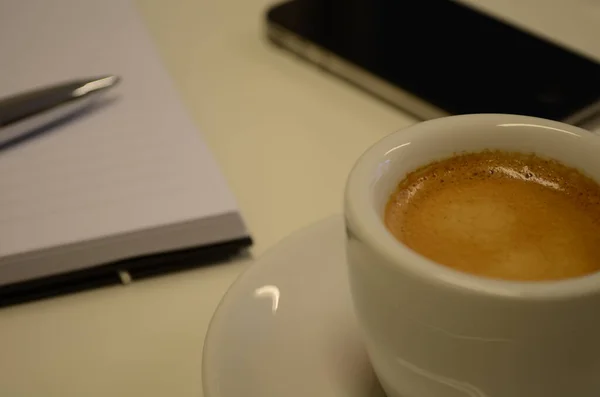
[(400, 182), (384, 220), (412, 250), (478, 276), (559, 280), (600, 269), (600, 186), (533, 154), (426, 165)]

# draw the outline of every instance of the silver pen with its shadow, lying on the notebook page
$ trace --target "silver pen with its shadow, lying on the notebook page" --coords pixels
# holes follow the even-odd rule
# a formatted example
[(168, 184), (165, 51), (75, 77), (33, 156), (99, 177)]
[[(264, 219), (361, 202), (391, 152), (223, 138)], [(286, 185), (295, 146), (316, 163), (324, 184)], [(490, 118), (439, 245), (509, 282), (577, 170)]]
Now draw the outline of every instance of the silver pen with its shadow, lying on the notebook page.
[(73, 80), (0, 98), (0, 147), (75, 114), (119, 80), (117, 76)]

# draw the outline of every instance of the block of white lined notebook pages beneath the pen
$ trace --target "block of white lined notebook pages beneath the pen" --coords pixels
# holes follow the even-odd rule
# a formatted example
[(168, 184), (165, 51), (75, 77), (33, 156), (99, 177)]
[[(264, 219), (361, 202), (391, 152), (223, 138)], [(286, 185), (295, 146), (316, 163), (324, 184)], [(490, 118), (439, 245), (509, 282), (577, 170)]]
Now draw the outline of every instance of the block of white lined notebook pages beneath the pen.
[(0, 288), (249, 244), (234, 197), (129, 1), (1, 2), (0, 15), (0, 96), (79, 77), (123, 78), (88, 114), (0, 151)]

